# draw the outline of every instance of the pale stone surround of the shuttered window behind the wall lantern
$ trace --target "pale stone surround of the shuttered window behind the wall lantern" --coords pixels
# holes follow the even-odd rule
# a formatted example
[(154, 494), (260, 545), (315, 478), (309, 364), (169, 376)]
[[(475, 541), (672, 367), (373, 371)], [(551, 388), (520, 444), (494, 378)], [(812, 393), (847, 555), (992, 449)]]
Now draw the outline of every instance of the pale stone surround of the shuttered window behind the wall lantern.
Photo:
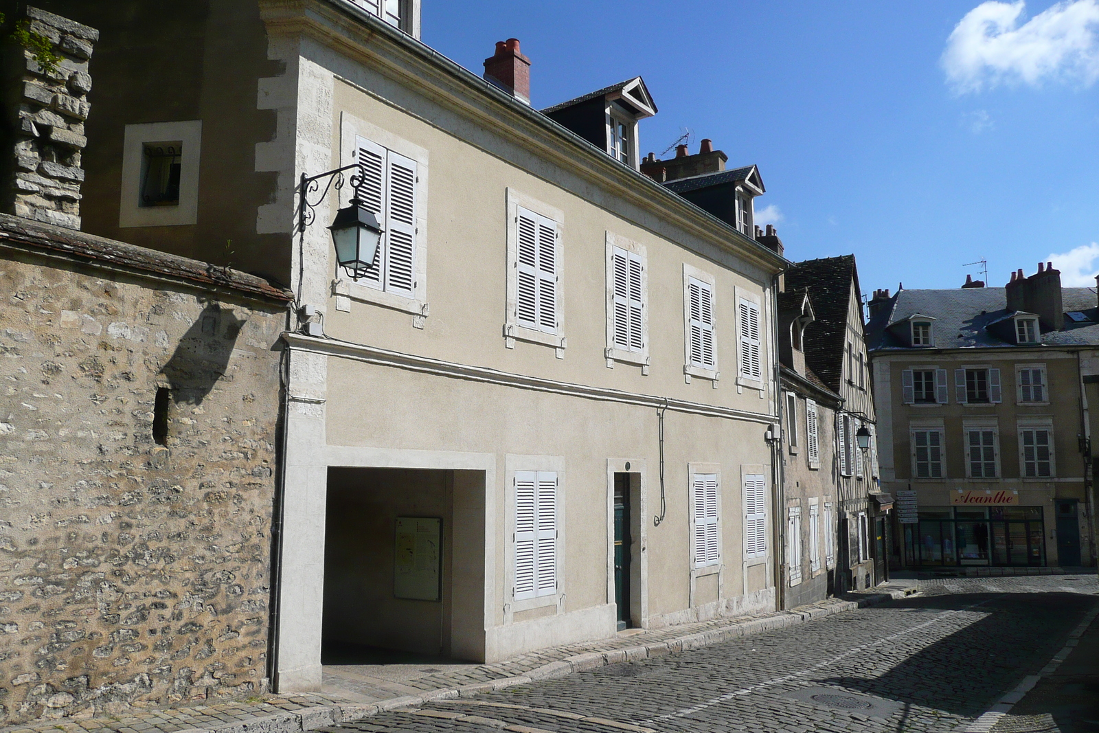
[[(333, 265), (336, 273), (332, 281), (332, 293), (336, 298), (335, 308), (337, 311), (349, 312), (351, 301), (363, 303), (374, 303), (384, 308), (403, 311), (412, 314), (412, 325), (422, 329), (424, 320), (431, 312), (428, 303), (428, 151), (414, 143), (410, 143), (402, 137), (395, 135), (388, 130), (384, 130), (375, 124), (342, 111), (340, 113), (340, 166), (347, 166), (355, 163), (356, 151), (358, 149), (358, 138), (365, 137), (377, 145), (393, 151), (417, 163), (417, 222), (415, 222), (415, 286), (413, 287), (413, 298), (406, 298), (393, 292), (386, 292), (366, 285), (359, 285), (354, 280), (345, 279), (340, 273), (340, 268)], [(348, 206), (354, 190), (349, 179), (354, 171), (347, 171), (348, 182), (338, 192), (338, 207)], [(329, 247), (329, 255), (334, 256), (335, 252)], [(334, 260), (333, 260), (334, 262)]]

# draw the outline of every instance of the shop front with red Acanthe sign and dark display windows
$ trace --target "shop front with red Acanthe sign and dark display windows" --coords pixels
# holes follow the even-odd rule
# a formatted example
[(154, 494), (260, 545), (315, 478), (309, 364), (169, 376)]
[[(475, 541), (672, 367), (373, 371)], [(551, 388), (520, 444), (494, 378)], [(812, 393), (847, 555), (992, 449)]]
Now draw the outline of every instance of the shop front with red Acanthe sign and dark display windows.
[(907, 566), (1044, 566), (1045, 512), (1017, 491), (951, 491), (901, 524)]

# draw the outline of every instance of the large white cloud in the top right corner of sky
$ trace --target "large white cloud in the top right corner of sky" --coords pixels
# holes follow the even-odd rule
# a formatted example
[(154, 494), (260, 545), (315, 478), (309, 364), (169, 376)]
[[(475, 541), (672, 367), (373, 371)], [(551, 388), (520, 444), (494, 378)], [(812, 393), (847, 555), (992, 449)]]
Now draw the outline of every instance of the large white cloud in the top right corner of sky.
[(1045, 80), (1090, 86), (1099, 79), (1099, 0), (1066, 0), (1020, 23), (1025, 2), (988, 0), (946, 41), (941, 59), (958, 92)]

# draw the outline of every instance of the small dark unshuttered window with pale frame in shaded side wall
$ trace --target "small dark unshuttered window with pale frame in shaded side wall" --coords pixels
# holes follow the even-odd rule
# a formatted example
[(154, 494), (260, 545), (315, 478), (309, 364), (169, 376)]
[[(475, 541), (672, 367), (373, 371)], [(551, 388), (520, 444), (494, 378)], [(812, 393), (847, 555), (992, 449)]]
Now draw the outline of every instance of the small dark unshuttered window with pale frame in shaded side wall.
[(195, 224), (202, 121), (127, 124), (122, 143), (119, 226)]

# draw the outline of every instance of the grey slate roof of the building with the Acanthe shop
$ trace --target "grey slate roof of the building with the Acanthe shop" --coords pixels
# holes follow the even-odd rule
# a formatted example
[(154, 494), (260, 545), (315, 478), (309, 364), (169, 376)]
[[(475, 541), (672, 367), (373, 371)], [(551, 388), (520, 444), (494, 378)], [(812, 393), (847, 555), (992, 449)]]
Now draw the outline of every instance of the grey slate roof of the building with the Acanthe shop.
[[(1062, 288), (1066, 313), (1079, 311), (1088, 320), (1076, 322), (1065, 316), (1063, 331), (1042, 334), (1042, 344), (1073, 346), (1099, 344), (1099, 309), (1095, 288)], [(866, 324), (868, 349), (910, 348), (888, 329), (889, 325), (920, 313), (934, 316), (932, 343), (936, 348), (981, 348), (1017, 346), (1003, 341), (988, 325), (1002, 321), (1014, 311), (1007, 308), (1004, 288), (957, 288), (951, 290), (899, 290)], [(1033, 348), (1020, 345), (1018, 348)]]

